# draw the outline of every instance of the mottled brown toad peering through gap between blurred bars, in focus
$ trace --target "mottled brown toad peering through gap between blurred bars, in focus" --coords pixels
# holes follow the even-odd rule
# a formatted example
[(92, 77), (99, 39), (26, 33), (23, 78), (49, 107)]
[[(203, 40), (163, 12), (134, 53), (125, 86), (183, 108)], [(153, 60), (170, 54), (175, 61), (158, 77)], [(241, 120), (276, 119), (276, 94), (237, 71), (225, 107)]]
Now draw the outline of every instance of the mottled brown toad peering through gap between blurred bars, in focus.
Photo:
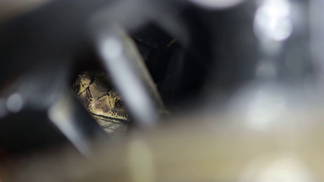
[(85, 71), (78, 75), (73, 88), (80, 103), (109, 135), (126, 133), (128, 112), (104, 73)]

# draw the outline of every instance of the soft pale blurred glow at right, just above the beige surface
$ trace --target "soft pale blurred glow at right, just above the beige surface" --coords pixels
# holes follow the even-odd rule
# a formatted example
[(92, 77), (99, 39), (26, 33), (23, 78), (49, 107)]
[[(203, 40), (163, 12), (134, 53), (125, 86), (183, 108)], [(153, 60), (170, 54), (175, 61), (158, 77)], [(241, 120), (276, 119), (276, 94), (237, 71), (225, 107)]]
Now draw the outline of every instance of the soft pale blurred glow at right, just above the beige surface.
[(256, 82), (238, 89), (228, 108), (230, 113), (241, 115), (246, 126), (265, 130), (280, 124), (280, 115), (289, 107), (287, 99), (282, 87)]

